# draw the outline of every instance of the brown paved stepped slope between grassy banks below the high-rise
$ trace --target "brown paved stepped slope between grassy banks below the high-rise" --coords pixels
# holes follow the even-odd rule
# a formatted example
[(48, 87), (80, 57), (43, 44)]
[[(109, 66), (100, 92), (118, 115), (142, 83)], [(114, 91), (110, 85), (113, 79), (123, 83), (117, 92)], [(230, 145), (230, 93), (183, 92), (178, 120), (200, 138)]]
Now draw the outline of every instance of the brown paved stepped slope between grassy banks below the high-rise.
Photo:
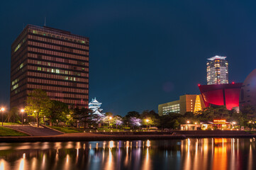
[(31, 136), (52, 136), (52, 135), (62, 134), (62, 132), (57, 132), (56, 130), (52, 130), (50, 128), (45, 128), (45, 127), (37, 128), (31, 125), (8, 125), (4, 127), (25, 132), (26, 134)]

